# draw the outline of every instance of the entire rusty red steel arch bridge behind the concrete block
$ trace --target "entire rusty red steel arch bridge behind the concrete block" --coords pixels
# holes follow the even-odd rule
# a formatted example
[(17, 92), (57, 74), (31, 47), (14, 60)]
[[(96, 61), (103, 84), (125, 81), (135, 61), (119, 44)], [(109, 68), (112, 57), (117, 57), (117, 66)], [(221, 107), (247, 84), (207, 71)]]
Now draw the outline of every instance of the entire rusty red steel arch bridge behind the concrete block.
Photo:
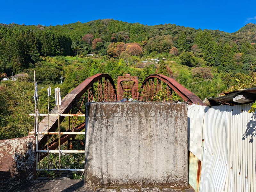
[[(157, 102), (157, 100), (154, 99), (158, 93), (165, 93), (164, 100), (166, 102), (175, 102), (175, 100), (172, 100), (172, 95), (175, 94), (189, 105), (204, 105), (202, 100), (200, 100), (194, 93), (186, 89), (173, 78), (164, 75), (149, 75), (142, 82), (140, 88), (137, 76), (130, 76), (130, 74), (119, 76), (116, 89), (111, 76), (108, 74), (96, 74), (87, 78), (61, 100), (59, 113), (68, 114), (72, 112), (72, 114), (84, 114), (85, 111), (83, 105), (85, 102)], [(58, 108), (53, 108), (51, 113), (58, 113)], [(65, 117), (60, 116), (60, 123), (64, 118)], [(39, 132), (45, 132), (48, 128), (49, 132), (53, 132), (58, 128), (57, 116), (45, 117), (39, 123)], [(72, 116), (71, 120), (69, 118), (69, 129), (66, 130), (66, 132), (80, 132), (84, 129), (85, 122), (79, 124), (78, 116)], [(75, 139), (75, 137), (76, 135), (74, 134), (62, 135), (60, 136), (60, 144), (64, 144), (71, 138)], [(58, 145), (58, 139), (51, 141), (48, 144), (49, 150), (58, 148)], [(47, 135), (39, 136), (39, 148), (47, 150)], [(41, 153), (39, 159), (41, 160), (45, 156), (47, 156), (47, 153)]]

